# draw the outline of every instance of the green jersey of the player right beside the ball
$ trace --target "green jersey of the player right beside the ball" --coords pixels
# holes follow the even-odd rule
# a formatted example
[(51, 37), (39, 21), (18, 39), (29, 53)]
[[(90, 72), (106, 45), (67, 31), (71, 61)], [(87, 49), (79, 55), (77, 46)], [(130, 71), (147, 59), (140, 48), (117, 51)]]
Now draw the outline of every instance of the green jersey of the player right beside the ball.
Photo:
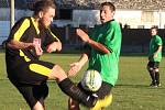
[(102, 80), (114, 86), (119, 74), (119, 55), (121, 48), (121, 30), (119, 23), (111, 20), (97, 25), (89, 33), (89, 37), (105, 45), (110, 53), (105, 54), (91, 47), (89, 68), (101, 74)]

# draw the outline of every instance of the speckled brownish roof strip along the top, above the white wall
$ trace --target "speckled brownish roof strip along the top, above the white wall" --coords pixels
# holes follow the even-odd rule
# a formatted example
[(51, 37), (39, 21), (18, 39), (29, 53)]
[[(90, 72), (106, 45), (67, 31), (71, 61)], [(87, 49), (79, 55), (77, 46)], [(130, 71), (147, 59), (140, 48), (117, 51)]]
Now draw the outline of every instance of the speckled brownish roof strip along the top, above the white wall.
[(55, 0), (58, 6), (97, 9), (105, 1), (113, 2), (117, 9), (165, 10), (165, 0)]

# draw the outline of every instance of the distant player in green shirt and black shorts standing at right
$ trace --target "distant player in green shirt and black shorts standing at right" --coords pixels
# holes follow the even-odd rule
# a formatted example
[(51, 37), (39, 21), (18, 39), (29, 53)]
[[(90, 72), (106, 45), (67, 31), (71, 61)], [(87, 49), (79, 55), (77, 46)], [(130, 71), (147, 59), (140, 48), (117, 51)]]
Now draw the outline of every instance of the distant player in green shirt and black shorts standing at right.
[(151, 42), (148, 48), (148, 64), (147, 70), (152, 78), (152, 84), (150, 86), (157, 87), (160, 84), (160, 72), (158, 66), (162, 59), (162, 38), (157, 35), (157, 28), (151, 28)]

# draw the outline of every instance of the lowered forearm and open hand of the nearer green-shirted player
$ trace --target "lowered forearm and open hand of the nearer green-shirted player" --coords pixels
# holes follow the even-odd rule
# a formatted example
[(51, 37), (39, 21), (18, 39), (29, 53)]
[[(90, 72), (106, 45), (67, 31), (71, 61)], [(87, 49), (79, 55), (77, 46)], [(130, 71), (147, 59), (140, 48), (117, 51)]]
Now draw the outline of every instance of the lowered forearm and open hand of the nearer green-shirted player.
[(88, 55), (82, 54), (78, 62), (70, 64), (70, 69), (68, 70), (68, 76), (75, 76), (81, 67), (87, 63)]

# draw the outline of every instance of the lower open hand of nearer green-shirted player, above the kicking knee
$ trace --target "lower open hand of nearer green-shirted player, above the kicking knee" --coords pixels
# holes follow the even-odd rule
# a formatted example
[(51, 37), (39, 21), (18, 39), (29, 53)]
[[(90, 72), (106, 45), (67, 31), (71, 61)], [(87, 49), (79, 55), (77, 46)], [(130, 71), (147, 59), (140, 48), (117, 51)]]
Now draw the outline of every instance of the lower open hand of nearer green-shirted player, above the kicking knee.
[(68, 77), (75, 76), (79, 70), (81, 69), (81, 66), (79, 63), (73, 63), (70, 64), (70, 69), (68, 70)]

